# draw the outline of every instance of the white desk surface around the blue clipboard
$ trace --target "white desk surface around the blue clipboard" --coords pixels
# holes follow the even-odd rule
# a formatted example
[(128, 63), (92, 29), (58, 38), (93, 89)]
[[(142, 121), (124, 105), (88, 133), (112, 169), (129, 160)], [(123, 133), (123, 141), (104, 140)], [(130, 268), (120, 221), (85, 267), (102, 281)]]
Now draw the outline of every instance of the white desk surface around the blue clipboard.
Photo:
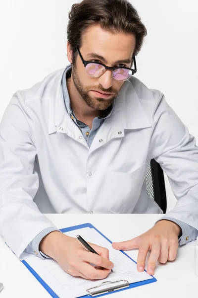
[[(111, 241), (132, 239), (153, 226), (161, 215), (47, 215), (58, 227), (91, 223)], [(194, 274), (195, 246), (179, 248), (177, 259), (167, 264), (158, 264), (155, 270), (157, 282), (145, 286), (114, 293), (111, 298), (186, 298), (196, 295), (198, 277)], [(138, 250), (127, 252), (137, 260)], [(16, 258), (0, 239), (0, 282), (4, 289), (0, 298), (50, 298), (48, 292)]]

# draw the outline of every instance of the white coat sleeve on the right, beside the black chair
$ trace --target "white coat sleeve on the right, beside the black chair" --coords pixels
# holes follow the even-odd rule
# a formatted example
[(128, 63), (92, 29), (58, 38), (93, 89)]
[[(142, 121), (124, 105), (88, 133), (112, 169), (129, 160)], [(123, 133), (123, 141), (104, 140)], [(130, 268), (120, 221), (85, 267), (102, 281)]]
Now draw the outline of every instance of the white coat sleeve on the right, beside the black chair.
[(161, 165), (178, 200), (164, 217), (198, 229), (198, 147), (163, 94), (157, 101), (152, 127), (149, 157)]

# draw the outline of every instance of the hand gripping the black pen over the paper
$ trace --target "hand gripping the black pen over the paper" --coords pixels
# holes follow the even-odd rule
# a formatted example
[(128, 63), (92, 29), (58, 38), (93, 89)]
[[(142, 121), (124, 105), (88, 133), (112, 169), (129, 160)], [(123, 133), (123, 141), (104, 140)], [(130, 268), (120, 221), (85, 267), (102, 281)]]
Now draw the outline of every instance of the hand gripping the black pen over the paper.
[[(80, 276), (88, 280), (106, 278), (114, 266), (109, 261), (108, 249), (88, 243), (99, 255), (83, 248), (77, 238), (69, 237), (59, 231), (53, 231), (45, 236), (39, 249), (72, 276)], [(97, 265), (99, 269), (89, 263)]]

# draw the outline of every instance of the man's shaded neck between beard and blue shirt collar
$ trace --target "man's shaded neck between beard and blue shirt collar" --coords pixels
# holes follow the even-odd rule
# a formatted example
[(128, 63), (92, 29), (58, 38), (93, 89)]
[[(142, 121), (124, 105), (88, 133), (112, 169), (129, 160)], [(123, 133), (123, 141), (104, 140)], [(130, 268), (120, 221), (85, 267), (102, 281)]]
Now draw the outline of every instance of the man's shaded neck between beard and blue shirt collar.
[(104, 111), (95, 110), (89, 107), (76, 90), (72, 78), (70, 78), (69, 84), (68, 80), (69, 78), (67, 79), (67, 85), (71, 108), (74, 111), (77, 119), (90, 127), (92, 126), (94, 118), (101, 116), (104, 113)]

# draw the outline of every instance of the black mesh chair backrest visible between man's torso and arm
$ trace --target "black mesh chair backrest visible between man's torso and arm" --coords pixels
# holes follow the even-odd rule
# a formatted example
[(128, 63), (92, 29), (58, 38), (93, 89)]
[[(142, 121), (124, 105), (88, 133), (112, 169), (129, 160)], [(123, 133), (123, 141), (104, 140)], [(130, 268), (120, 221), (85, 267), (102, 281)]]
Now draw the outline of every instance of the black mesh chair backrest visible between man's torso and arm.
[(166, 213), (167, 201), (164, 173), (159, 163), (154, 159), (150, 160), (146, 181), (149, 196), (159, 205), (163, 213)]

